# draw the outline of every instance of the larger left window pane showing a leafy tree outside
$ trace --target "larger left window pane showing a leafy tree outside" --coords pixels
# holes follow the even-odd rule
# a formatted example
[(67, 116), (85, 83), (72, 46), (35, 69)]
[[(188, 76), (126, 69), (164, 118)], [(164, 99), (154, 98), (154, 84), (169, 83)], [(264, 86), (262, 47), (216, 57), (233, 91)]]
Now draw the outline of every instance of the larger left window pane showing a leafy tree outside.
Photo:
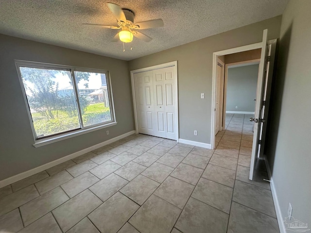
[(19, 70), (37, 138), (81, 128), (70, 71)]

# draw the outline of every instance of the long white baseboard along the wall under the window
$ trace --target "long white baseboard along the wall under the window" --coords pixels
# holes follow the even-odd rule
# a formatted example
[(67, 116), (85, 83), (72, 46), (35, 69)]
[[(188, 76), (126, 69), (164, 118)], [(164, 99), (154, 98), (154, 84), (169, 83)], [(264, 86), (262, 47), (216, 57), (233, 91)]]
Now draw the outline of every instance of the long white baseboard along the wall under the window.
[(100, 147), (104, 147), (104, 146), (106, 146), (106, 145), (108, 145), (108, 144), (110, 144), (110, 143), (113, 143), (113, 142), (115, 142), (115, 141), (118, 141), (118, 140), (120, 140), (120, 139), (122, 139), (122, 138), (124, 138), (124, 137), (127, 137), (127, 136), (129, 136), (129, 135), (132, 135), (132, 134), (134, 134), (134, 133), (135, 133), (135, 130), (130, 131), (130, 132), (128, 132), (128, 133), (124, 133), (124, 134), (122, 134), (122, 135), (120, 135), (120, 136), (111, 138), (111, 139), (109, 139), (109, 140), (107, 140), (107, 141), (101, 142), (101, 143), (96, 144), (96, 145), (94, 145), (94, 146), (91, 146), (91, 147), (89, 147), (89, 148), (86, 148), (86, 149), (83, 149), (83, 150), (79, 150), (79, 151), (77, 151), (77, 152), (74, 152), (74, 153), (69, 154), (69, 155), (67, 155), (67, 156), (65, 156), (65, 157), (62, 157), (62, 158), (60, 158), (60, 159), (54, 160), (54, 161), (52, 161), (52, 162), (49, 162), (49, 163), (47, 163), (47, 164), (44, 164), (44, 165), (41, 165), (41, 166), (37, 166), (37, 167), (35, 167), (35, 168), (31, 169), (31, 170), (24, 171), (24, 172), (19, 173), (19, 174), (15, 175), (15, 176), (11, 176), (11, 177), (9, 177), (9, 178), (6, 178), (6, 179), (0, 181), (0, 188), (1, 188), (1, 187), (4, 187), (4, 186), (6, 186), (6, 185), (9, 185), (9, 184), (11, 184), (11, 183), (15, 183), (15, 182), (17, 182), (17, 181), (20, 181), (20, 180), (22, 180), (22, 179), (25, 179), (25, 178), (27, 178), (27, 177), (29, 177), (29, 176), (35, 175), (36, 173), (41, 172), (41, 171), (44, 171), (44, 170), (46, 170), (46, 169), (49, 169), (49, 168), (51, 168), (51, 167), (53, 167), (53, 166), (59, 165), (59, 164), (61, 164), (61, 163), (64, 163), (64, 162), (66, 162), (66, 161), (68, 161), (68, 160), (70, 160), (70, 159), (73, 159), (73, 158), (75, 158), (75, 157), (78, 157), (78, 156), (80, 156), (80, 155), (83, 155), (83, 154), (85, 154), (85, 153), (87, 153), (87, 152), (89, 152), (89, 151), (96, 150), (96, 149), (98, 149), (98, 148), (100, 148)]

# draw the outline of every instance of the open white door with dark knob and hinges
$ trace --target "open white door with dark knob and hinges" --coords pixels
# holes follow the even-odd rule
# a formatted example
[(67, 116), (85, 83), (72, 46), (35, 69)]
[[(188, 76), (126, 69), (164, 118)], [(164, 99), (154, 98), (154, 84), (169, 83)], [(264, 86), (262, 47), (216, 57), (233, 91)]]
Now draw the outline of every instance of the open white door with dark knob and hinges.
[[(249, 171), (249, 179), (253, 180), (255, 163), (259, 155), (263, 155), (263, 142), (266, 130), (266, 117), (268, 116), (271, 81), (273, 75), (273, 62), (275, 55), (275, 43), (268, 45), (267, 41), (268, 30), (263, 31), (261, 57), (259, 63), (258, 81), (257, 81), (257, 94), (255, 104), (255, 118), (250, 118), (250, 121), (255, 121), (254, 137), (252, 147), (251, 166)], [(272, 51), (273, 49), (273, 51)]]

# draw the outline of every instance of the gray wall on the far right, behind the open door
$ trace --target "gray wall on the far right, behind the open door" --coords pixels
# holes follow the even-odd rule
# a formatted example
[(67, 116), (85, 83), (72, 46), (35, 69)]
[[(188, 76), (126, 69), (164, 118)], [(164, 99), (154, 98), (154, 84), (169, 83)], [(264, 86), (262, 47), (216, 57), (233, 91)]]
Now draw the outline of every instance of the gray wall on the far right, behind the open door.
[(311, 1), (291, 0), (282, 17), (265, 154), (282, 217), (311, 227)]

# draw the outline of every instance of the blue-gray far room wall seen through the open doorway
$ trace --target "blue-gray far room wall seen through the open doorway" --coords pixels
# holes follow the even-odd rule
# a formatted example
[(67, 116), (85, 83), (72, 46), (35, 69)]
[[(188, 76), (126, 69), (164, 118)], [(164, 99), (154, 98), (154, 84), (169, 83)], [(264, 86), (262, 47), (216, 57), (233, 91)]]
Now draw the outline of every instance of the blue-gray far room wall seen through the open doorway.
[(255, 111), (253, 99), (256, 99), (258, 67), (259, 65), (250, 65), (228, 68), (226, 111)]

